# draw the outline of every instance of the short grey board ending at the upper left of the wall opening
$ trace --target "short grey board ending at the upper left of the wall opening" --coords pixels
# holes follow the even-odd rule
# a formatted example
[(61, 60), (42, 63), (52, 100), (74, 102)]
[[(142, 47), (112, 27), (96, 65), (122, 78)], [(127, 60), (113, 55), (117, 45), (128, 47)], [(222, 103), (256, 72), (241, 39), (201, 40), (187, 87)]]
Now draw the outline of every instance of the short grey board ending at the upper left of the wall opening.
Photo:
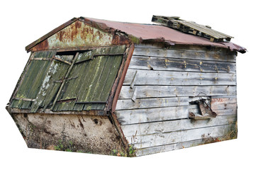
[(188, 106), (188, 97), (173, 97), (173, 98), (139, 98), (135, 101), (131, 99), (118, 100), (116, 111), (135, 109), (135, 108), (162, 108), (171, 106)]

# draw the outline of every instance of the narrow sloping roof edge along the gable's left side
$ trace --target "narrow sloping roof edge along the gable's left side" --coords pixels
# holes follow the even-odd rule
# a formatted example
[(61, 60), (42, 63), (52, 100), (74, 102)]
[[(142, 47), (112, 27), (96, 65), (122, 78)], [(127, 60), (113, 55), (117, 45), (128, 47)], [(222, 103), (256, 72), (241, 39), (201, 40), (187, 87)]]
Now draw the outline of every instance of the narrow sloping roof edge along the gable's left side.
[(58, 31), (62, 30), (63, 28), (66, 28), (67, 26), (69, 26), (70, 24), (74, 23), (75, 21), (77, 21), (78, 18), (72, 18), (71, 20), (67, 21), (66, 23), (63, 23), (61, 26), (58, 26), (57, 28), (51, 30), (49, 33), (43, 35), (43, 37), (39, 38), (38, 40), (35, 40), (34, 42), (30, 43), (30, 45), (27, 45), (25, 47), (25, 50), (27, 52), (29, 52), (29, 50), (32, 47), (35, 47), (35, 45), (38, 45), (40, 42), (42, 42), (43, 40), (49, 38), (50, 36), (54, 35), (55, 33), (57, 33)]

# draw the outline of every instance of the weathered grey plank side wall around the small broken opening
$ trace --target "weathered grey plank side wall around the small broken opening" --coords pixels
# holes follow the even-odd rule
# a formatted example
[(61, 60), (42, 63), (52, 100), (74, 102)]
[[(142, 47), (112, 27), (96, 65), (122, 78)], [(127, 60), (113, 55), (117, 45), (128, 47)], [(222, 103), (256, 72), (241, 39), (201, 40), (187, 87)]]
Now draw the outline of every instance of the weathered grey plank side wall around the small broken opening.
[[(213, 142), (235, 129), (235, 57), (223, 49), (135, 46), (116, 115), (138, 156)], [(211, 96), (217, 117), (189, 119), (199, 111), (189, 105), (194, 96)]]

